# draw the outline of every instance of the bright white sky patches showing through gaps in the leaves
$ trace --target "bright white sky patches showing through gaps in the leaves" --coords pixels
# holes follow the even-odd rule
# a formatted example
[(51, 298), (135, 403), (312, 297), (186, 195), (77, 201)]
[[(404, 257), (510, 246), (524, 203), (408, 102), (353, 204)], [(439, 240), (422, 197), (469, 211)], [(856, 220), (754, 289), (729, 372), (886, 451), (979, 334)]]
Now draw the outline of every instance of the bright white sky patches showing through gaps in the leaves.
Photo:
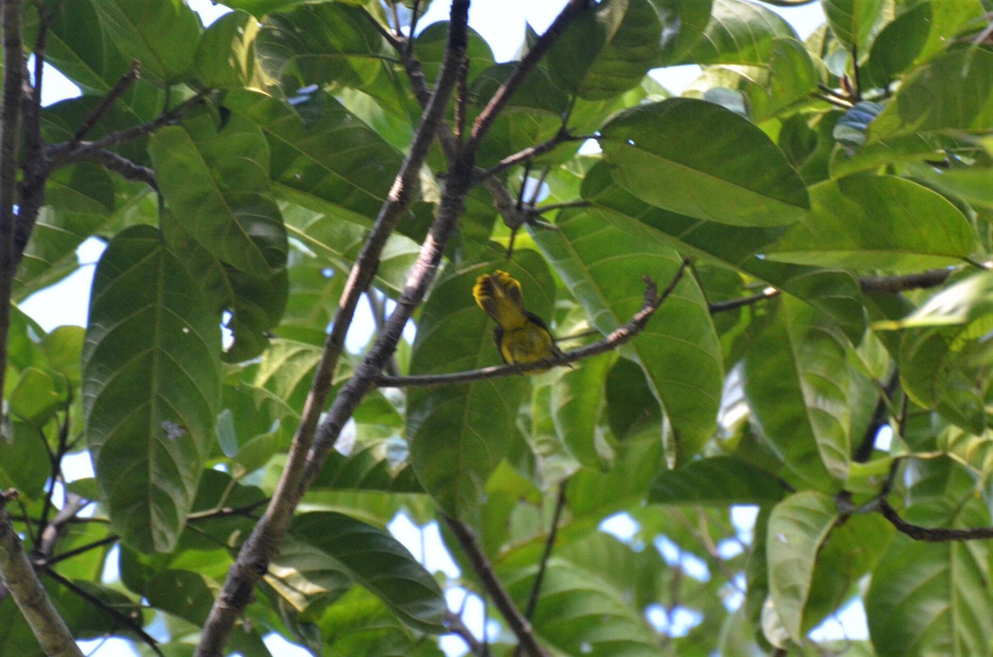
[[(201, 15), (205, 25), (210, 25), (217, 17), (229, 11), (223, 5), (214, 5), (211, 0), (187, 0), (187, 2)], [(497, 61), (507, 61), (512, 59), (520, 47), (525, 21), (540, 33), (551, 23), (564, 4), (565, 0), (474, 0), (469, 14), (470, 25), (491, 45)], [(431, 23), (446, 20), (450, 6), (451, 0), (434, 0), (428, 12), (420, 20), (418, 32)], [(801, 39), (813, 32), (823, 22), (823, 13), (819, 3), (816, 2), (789, 8), (767, 6), (785, 18)], [(677, 94), (688, 86), (699, 72), (699, 66), (670, 66), (665, 69), (653, 70), (650, 74), (671, 92)], [(48, 105), (78, 94), (78, 88), (58, 70), (51, 66), (46, 67), (42, 88), (44, 104)], [(86, 240), (76, 251), (79, 262), (83, 266), (57, 285), (28, 298), (21, 304), (21, 309), (46, 330), (62, 325), (84, 327), (93, 270), (103, 248), (104, 246), (99, 240), (92, 238)], [(372, 318), (367, 305), (359, 304), (353, 328), (347, 338), (347, 346), (353, 351), (362, 347), (372, 330), (372, 326)], [(66, 473), (69, 480), (92, 476), (88, 457), (82, 454), (68, 459)], [(738, 538), (746, 544), (751, 541), (751, 528), (754, 525), (756, 513), (755, 507), (735, 507), (732, 509), (732, 520), (738, 528)], [(419, 527), (406, 514), (400, 513), (390, 522), (388, 529), (429, 571), (441, 571), (450, 578), (459, 576), (458, 567), (441, 541), (437, 523)], [(617, 536), (622, 541), (631, 543), (638, 531), (638, 525), (630, 515), (620, 513), (607, 518), (601, 524), (601, 530)], [(678, 565), (688, 576), (698, 580), (709, 578), (704, 562), (681, 552), (668, 539), (660, 538), (656, 541), (654, 548), (659, 551), (667, 563), (672, 566)], [(719, 548), (722, 551), (728, 551), (726, 553), (728, 556), (731, 556), (734, 550), (741, 549), (737, 541), (727, 541)], [(107, 568), (103, 576), (105, 582), (113, 582), (118, 578), (116, 553), (117, 549), (115, 548), (108, 557)], [(446, 599), (450, 608), (454, 610), (464, 609), (466, 624), (477, 637), (482, 637), (484, 606), (479, 596), (470, 594), (469, 598), (466, 599), (465, 589), (453, 587), (446, 591)], [(731, 596), (726, 600), (726, 603), (740, 604), (741, 600), (738, 599), (735, 602), (734, 597)], [(680, 607), (672, 614), (667, 615), (659, 605), (649, 607), (645, 616), (648, 622), (657, 629), (669, 631), (675, 635), (685, 634), (700, 620), (699, 614), (691, 609)], [(495, 629), (491, 623), (489, 633), (493, 634)], [(156, 623), (153, 624), (150, 633), (160, 639), (166, 639), (164, 632), (164, 625)], [(858, 600), (842, 609), (837, 618), (826, 621), (811, 633), (811, 638), (814, 639), (845, 636), (852, 639), (868, 636), (865, 611)], [(310, 654), (302, 648), (287, 643), (275, 634), (270, 634), (265, 640), (273, 654), (279, 655), (279, 657), (306, 657)], [(80, 641), (79, 644), (83, 652), (91, 657), (124, 657), (137, 654), (128, 642), (119, 639)], [(443, 637), (442, 648), (449, 656), (462, 655), (466, 652), (465, 644), (454, 635)]]

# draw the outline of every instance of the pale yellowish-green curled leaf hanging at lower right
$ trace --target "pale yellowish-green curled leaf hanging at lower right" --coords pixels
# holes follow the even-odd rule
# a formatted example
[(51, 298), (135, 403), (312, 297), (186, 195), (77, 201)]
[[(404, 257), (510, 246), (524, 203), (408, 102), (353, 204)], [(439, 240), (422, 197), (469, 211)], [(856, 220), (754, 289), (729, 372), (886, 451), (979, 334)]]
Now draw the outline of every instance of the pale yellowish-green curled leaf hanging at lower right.
[(769, 591), (783, 626), (797, 643), (804, 639), (800, 628), (817, 552), (837, 519), (834, 500), (812, 490), (782, 500), (769, 519)]

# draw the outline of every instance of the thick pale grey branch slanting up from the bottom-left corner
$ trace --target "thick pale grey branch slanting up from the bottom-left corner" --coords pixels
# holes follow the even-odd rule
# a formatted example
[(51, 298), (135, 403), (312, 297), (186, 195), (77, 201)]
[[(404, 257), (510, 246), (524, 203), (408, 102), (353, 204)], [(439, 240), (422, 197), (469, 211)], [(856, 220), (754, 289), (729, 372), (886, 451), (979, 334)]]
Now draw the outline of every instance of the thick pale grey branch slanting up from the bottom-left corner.
[[(8, 0), (4, 4), (5, 11), (10, 4), (14, 3)], [(14, 596), (46, 655), (82, 657), (82, 651), (75, 644), (66, 621), (38, 581), (35, 569), (24, 554), (21, 539), (7, 517), (6, 504), (16, 496), (17, 491), (13, 489), (0, 494), (0, 582)]]

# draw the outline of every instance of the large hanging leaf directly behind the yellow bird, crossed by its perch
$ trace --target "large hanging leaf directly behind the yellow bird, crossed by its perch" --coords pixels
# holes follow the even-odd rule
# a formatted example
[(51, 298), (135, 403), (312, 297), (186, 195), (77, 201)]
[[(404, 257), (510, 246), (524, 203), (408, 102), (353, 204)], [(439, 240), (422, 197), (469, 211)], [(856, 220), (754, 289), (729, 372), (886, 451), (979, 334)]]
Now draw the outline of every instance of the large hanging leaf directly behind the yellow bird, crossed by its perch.
[[(519, 251), (513, 261), (488, 251), (490, 262), (452, 271), (432, 291), (417, 325), (412, 374), (477, 369), (500, 362), (493, 323), (473, 301), (477, 276), (497, 266), (520, 281), (524, 307), (551, 316), (555, 285), (544, 261)], [(520, 376), (408, 393), (407, 440), (418, 480), (446, 513), (469, 517), (479, 507), (487, 478), (510, 445), (511, 428), (527, 387)]]

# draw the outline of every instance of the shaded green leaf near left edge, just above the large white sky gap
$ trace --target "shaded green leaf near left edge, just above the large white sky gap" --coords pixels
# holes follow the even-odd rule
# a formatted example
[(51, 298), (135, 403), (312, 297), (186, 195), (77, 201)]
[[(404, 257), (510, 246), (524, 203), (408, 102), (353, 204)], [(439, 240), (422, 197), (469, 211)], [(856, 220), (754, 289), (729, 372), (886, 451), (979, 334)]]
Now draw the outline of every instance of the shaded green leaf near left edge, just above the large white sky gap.
[(16, 285), (30, 290), (47, 276), (74, 269), (75, 249), (102, 226), (114, 207), (110, 175), (88, 162), (57, 170), (45, 190), (46, 204), (24, 250)]

